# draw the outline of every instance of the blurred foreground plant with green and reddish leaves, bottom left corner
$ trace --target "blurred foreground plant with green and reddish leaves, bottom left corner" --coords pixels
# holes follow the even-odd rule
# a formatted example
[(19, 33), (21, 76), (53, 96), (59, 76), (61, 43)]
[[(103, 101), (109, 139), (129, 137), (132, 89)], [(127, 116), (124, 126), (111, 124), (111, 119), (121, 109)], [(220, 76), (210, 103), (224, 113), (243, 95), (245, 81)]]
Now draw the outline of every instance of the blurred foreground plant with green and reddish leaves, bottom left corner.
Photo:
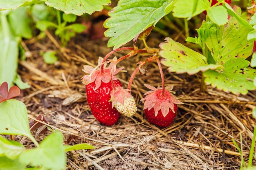
[[(8, 92), (8, 84), (4, 82), (0, 86), (0, 169), (1, 170), (63, 170), (66, 167), (65, 152), (80, 149), (93, 149), (88, 144), (63, 146), (63, 135), (54, 131), (40, 144), (33, 137), (29, 129), (27, 108), (24, 103), (11, 99), (20, 94), (17, 86), (12, 86)], [(37, 119), (41, 119), (41, 116)], [(45, 118), (42, 121), (47, 123)], [(37, 126), (37, 127), (36, 127)], [(31, 124), (31, 129), (40, 127), (40, 123)], [(41, 131), (41, 132), (44, 132)], [(27, 149), (18, 141), (7, 139), (3, 135), (26, 136), (34, 143), (36, 148)]]

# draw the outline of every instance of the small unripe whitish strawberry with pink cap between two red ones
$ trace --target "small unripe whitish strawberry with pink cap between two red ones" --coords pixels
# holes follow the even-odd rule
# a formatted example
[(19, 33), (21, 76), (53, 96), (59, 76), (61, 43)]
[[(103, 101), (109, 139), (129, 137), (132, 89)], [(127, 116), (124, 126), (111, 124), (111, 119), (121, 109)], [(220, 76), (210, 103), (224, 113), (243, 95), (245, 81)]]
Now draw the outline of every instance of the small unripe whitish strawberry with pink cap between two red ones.
[(136, 111), (136, 102), (128, 89), (117, 86), (111, 93), (112, 108), (115, 107), (122, 115), (133, 116)]

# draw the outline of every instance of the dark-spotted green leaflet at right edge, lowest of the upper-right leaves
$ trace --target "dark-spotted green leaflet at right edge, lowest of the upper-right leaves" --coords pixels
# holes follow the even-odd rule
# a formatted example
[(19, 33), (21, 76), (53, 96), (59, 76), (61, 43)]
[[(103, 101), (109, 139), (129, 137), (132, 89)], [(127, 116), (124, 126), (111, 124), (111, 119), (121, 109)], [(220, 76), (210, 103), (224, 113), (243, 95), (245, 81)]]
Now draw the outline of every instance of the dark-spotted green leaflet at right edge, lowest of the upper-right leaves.
[(228, 60), (223, 64), (223, 69), (204, 72), (204, 82), (228, 93), (247, 94), (248, 90), (256, 89), (253, 82), (255, 70), (247, 66), (249, 66), (249, 61), (244, 58)]

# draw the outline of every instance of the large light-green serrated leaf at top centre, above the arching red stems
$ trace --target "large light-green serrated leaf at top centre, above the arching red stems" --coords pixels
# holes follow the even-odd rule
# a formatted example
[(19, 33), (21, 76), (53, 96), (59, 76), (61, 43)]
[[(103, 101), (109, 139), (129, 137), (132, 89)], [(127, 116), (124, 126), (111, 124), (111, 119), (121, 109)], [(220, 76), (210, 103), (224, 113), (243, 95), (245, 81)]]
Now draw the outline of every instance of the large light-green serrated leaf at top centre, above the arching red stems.
[(126, 44), (139, 33), (154, 25), (173, 9), (173, 0), (119, 0), (118, 6), (110, 11), (110, 18), (104, 22), (111, 37), (108, 47), (114, 50)]

